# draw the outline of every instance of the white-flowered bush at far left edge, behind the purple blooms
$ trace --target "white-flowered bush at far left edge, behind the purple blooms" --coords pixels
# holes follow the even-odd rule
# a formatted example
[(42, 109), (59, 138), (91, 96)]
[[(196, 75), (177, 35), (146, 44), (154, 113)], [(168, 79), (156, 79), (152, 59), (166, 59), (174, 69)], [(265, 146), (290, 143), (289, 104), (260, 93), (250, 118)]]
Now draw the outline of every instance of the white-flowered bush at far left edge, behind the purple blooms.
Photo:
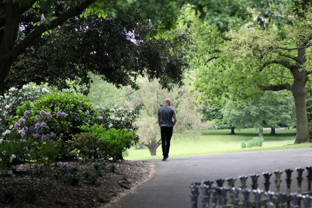
[(7, 118), (16, 115), (16, 108), (23, 104), (23, 101), (35, 101), (39, 96), (48, 94), (46, 88), (37, 88), (24, 85), (22, 89), (12, 87), (7, 94), (0, 95), (0, 138), (7, 134), (5, 127), (8, 125)]

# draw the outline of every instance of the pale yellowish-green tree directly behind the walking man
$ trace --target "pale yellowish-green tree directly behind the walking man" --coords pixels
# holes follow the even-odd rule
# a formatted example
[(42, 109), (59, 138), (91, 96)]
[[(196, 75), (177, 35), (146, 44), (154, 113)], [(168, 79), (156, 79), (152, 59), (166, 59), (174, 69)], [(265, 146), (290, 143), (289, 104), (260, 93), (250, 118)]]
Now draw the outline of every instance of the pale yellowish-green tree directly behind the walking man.
[(161, 145), (157, 111), (164, 105), (165, 98), (172, 100), (171, 107), (177, 113), (178, 121), (173, 128), (173, 138), (177, 133), (183, 133), (179, 134), (180, 139), (183, 135), (188, 138), (198, 138), (201, 129), (212, 128), (212, 125), (202, 123), (197, 106), (192, 102), (196, 93), (188, 91), (190, 85), (184, 85), (172, 92), (161, 89), (157, 81), (149, 83), (147, 79), (142, 79), (139, 80), (139, 85), (141, 89), (133, 92), (133, 99), (129, 100), (128, 105), (132, 108), (141, 106), (136, 123), (139, 127), (137, 134), (140, 137), (140, 143), (149, 149), (151, 155), (156, 155), (156, 149)]

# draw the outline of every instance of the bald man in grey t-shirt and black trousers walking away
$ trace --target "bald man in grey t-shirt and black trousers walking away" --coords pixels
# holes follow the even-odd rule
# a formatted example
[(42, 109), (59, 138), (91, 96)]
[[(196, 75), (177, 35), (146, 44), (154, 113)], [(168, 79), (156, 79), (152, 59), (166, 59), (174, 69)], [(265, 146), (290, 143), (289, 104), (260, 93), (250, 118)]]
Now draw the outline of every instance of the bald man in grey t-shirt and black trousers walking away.
[[(170, 107), (171, 100), (165, 99), (165, 105), (158, 110), (157, 121), (160, 127), (161, 148), (163, 149), (163, 161), (169, 157), (170, 140), (172, 137), (173, 126), (177, 123), (175, 110)], [(173, 118), (173, 121), (172, 121)]]

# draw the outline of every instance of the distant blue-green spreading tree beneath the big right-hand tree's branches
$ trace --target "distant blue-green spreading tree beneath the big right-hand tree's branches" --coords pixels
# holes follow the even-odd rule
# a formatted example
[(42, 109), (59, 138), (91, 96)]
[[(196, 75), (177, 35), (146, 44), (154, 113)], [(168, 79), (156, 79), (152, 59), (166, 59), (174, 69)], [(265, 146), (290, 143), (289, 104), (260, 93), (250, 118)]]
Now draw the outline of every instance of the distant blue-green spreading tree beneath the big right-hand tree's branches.
[(259, 101), (241, 103), (229, 99), (222, 113), (229, 124), (237, 128), (258, 128), (259, 137), (263, 137), (265, 127), (275, 129), (293, 125), (293, 107), (294, 100), (289, 93), (267, 91)]

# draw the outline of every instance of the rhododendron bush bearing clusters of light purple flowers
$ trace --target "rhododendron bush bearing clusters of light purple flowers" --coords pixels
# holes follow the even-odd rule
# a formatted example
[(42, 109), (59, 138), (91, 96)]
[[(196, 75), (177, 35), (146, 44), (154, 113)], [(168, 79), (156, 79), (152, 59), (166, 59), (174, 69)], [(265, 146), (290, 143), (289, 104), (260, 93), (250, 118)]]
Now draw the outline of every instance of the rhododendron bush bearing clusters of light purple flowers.
[(50, 112), (31, 109), (25, 110), (21, 117), (18, 112), (16, 117), (9, 118), (11, 132), (6, 140), (10, 142), (17, 138), (18, 143), (24, 145), (21, 152), (15, 152), (19, 158), (46, 164), (55, 162), (60, 156), (62, 132), (68, 131), (69, 122), (63, 120), (63, 112)]

